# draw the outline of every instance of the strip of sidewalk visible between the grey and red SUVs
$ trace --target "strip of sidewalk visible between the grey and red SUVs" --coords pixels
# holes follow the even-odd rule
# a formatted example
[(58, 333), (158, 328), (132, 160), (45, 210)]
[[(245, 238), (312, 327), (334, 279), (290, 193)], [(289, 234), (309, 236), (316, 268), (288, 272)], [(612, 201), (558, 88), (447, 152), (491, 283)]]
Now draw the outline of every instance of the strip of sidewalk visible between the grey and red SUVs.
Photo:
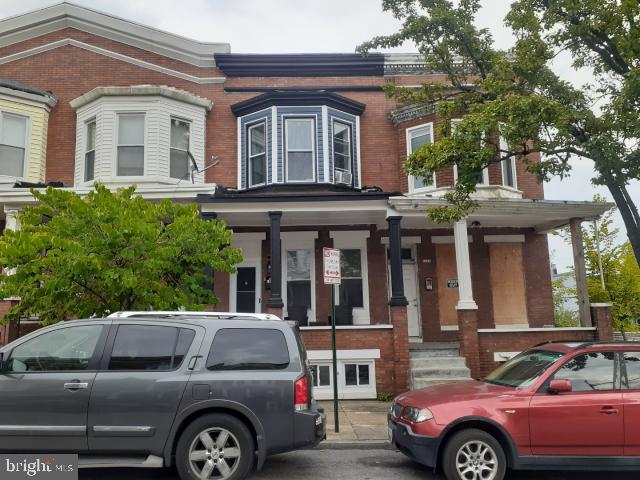
[(338, 404), (340, 432), (334, 431), (333, 401), (319, 402), (327, 415), (327, 439), (324, 448), (366, 448), (388, 446), (387, 412), (390, 402), (377, 400), (341, 400)]

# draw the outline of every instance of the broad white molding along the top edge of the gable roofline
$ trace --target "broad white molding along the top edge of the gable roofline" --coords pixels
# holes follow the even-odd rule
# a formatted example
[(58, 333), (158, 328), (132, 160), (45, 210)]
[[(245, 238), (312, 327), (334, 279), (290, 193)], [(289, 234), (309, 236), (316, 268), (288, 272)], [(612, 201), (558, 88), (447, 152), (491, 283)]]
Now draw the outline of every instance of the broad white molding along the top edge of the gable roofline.
[(215, 67), (215, 54), (228, 43), (207, 43), (68, 2), (0, 20), (0, 48), (64, 28), (108, 38), (198, 67)]

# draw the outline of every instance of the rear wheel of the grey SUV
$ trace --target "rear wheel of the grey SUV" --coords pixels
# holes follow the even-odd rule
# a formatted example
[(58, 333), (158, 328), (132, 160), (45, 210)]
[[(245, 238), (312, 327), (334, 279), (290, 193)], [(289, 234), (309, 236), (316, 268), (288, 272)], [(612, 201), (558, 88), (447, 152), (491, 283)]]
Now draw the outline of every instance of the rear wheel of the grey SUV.
[(253, 436), (244, 423), (213, 413), (193, 421), (176, 448), (182, 480), (244, 480), (253, 468)]

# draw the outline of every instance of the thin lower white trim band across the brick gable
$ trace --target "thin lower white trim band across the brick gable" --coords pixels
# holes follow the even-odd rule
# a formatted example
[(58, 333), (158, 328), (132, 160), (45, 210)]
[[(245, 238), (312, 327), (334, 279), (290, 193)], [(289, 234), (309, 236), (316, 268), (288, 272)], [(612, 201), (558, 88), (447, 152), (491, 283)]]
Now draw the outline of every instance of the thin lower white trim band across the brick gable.
[(224, 83), (224, 81), (226, 80), (225, 77), (197, 77), (195, 75), (191, 75), (188, 73), (179, 72), (177, 70), (172, 70), (170, 68), (162, 67), (160, 65), (156, 65), (155, 63), (145, 62), (144, 60), (140, 60), (138, 58), (129, 57), (121, 53), (96, 47), (95, 45), (90, 45), (88, 43), (80, 42), (73, 38), (65, 38), (65, 39), (57, 40), (55, 42), (47, 43), (44, 45), (38, 45), (37, 47), (30, 48), (28, 50), (23, 50), (21, 52), (16, 52), (16, 53), (12, 53), (11, 55), (7, 55), (5, 57), (1, 57), (0, 65), (3, 65), (5, 63), (10, 63), (10, 62), (15, 62), (16, 60), (21, 60), (23, 58), (31, 57), (33, 55), (38, 55), (40, 53), (48, 52), (49, 50), (54, 50), (56, 48), (66, 47), (67, 45), (82, 48), (84, 50), (97, 53), (98, 55), (104, 55), (105, 57), (114, 58), (122, 62), (130, 63), (138, 67), (146, 68), (148, 70), (153, 70), (155, 72), (164, 73), (165, 75), (169, 75), (172, 77), (181, 78), (183, 80), (187, 80), (193, 83), (198, 83), (198, 84)]

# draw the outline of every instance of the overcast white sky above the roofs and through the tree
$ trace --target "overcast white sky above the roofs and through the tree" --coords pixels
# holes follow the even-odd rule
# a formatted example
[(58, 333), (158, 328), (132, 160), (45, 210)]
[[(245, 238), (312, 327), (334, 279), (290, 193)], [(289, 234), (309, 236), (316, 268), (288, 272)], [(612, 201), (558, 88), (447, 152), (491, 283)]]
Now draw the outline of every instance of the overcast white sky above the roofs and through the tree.
[[(34, 10), (56, 2), (49, 0), (0, 0), (0, 17)], [(75, 0), (74, 3), (127, 18), (139, 23), (200, 41), (226, 42), (235, 53), (353, 52), (375, 35), (396, 31), (399, 22), (382, 12), (380, 0)], [(509, 45), (512, 37), (502, 18), (510, 2), (483, 0), (478, 23), (488, 27), (496, 43)], [(404, 45), (395, 51), (412, 52)], [(589, 72), (571, 69), (567, 57), (559, 57), (556, 70), (576, 84), (588, 81)], [(574, 162), (571, 177), (545, 185), (546, 197), (562, 200), (590, 200), (595, 193), (610, 198), (606, 189), (589, 180), (593, 166)], [(630, 188), (640, 202), (640, 184)], [(623, 230), (619, 216), (617, 222)], [(550, 237), (553, 261), (560, 270), (572, 264), (571, 248)]]

